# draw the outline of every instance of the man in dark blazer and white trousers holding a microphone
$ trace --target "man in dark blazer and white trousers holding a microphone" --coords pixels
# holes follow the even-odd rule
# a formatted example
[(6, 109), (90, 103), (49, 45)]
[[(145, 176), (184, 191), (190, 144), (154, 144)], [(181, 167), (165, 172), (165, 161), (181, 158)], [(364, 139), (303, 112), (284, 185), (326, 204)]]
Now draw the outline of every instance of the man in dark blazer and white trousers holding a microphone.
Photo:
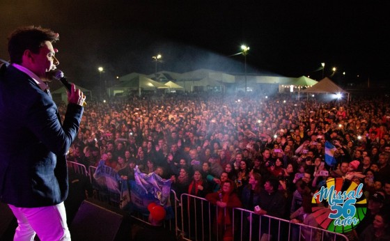
[(40, 26), (16, 29), (8, 38), (10, 64), (0, 68), (0, 197), (17, 218), (14, 240), (70, 240), (65, 155), (85, 96), (71, 85), (61, 123), (47, 86), (47, 73), (59, 65), (52, 45), (58, 40), (59, 33)]

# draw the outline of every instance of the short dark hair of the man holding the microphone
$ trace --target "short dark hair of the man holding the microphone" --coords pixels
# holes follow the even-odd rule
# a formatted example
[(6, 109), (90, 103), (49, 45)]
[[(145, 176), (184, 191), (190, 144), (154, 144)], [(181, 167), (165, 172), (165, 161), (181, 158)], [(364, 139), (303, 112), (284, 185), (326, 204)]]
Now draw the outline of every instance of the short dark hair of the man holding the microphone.
[(46, 41), (56, 42), (57, 40), (59, 40), (59, 35), (51, 29), (43, 29), (40, 26), (20, 27), (8, 37), (10, 62), (22, 63), (22, 56), (26, 49), (38, 54), (40, 47)]

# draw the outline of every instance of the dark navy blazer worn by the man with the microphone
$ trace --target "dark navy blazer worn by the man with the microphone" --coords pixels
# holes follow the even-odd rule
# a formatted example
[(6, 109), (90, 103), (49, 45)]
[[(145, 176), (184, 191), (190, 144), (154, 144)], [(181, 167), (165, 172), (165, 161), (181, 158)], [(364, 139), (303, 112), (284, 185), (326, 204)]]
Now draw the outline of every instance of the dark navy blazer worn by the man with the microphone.
[(65, 154), (84, 108), (68, 104), (61, 125), (52, 98), (12, 65), (0, 68), (0, 199), (21, 208), (68, 196)]

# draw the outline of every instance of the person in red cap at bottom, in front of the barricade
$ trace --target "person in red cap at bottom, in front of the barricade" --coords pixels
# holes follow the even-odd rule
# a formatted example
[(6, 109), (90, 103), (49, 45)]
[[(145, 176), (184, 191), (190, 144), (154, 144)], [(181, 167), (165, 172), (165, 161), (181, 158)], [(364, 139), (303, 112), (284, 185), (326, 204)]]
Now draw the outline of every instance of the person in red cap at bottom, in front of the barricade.
[(164, 240), (173, 241), (177, 240), (176, 235), (162, 226), (165, 219), (166, 211), (161, 205), (156, 203), (150, 203), (148, 205), (150, 212), (148, 221), (149, 225), (145, 226), (134, 235), (134, 241), (152, 241), (152, 240)]

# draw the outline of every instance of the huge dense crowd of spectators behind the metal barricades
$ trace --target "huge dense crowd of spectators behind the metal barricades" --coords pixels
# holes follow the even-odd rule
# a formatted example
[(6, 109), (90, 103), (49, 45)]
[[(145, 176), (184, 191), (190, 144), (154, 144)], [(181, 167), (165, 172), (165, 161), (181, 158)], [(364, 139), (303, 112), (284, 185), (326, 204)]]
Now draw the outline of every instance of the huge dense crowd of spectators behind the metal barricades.
[[(318, 223), (308, 200), (328, 178), (343, 178), (363, 183), (368, 199), (350, 240), (389, 240), (389, 130), (389, 100), (382, 98), (132, 96), (88, 102), (67, 160), (103, 160), (124, 179), (138, 166), (171, 179), (178, 196), (311, 226)], [(335, 146), (336, 164), (325, 162), (325, 142)], [(225, 240), (233, 238), (229, 221)]]

